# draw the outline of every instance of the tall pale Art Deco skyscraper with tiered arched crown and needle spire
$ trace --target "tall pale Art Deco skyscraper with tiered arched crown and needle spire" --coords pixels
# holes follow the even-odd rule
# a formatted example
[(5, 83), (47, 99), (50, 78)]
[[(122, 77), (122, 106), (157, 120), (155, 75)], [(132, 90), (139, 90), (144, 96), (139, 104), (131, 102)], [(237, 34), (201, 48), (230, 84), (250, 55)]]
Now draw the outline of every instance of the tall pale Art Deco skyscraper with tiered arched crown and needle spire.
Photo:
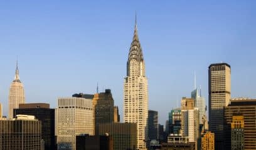
[(124, 79), (124, 122), (137, 123), (137, 148), (146, 149), (147, 111), (148, 111), (147, 78), (141, 43), (135, 23), (134, 36), (127, 61), (127, 76)]

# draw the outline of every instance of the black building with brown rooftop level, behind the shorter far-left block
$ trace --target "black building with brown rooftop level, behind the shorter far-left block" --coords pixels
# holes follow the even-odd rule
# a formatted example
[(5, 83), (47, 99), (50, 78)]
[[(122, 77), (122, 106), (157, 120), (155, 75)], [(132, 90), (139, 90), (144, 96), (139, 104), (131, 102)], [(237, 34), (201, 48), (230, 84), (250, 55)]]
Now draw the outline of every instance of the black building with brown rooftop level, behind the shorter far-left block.
[(14, 109), (13, 116), (26, 114), (35, 116), (41, 121), (41, 131), (45, 149), (55, 149), (55, 109), (50, 109), (50, 104), (27, 103), (19, 104), (18, 109)]

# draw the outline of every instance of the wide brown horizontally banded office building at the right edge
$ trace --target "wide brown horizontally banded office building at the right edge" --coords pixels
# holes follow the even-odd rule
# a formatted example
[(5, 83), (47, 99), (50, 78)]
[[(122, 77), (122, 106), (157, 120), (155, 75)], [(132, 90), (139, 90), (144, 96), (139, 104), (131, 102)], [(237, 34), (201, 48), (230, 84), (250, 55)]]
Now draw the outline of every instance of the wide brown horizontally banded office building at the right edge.
[[(256, 99), (232, 99), (224, 110), (225, 149), (232, 149), (232, 139), (237, 140), (238, 143), (243, 143), (244, 141), (244, 149), (256, 149)], [(233, 118), (233, 116), (237, 117)], [(243, 116), (243, 119), (241, 116)], [(234, 128), (232, 129), (233, 121), (237, 121), (240, 124), (239, 126), (241, 127), (238, 128), (240, 131), (237, 131), (237, 126), (233, 126)], [(244, 124), (243, 129), (242, 124)], [(233, 135), (237, 135), (237, 139), (232, 138), (232, 131)]]

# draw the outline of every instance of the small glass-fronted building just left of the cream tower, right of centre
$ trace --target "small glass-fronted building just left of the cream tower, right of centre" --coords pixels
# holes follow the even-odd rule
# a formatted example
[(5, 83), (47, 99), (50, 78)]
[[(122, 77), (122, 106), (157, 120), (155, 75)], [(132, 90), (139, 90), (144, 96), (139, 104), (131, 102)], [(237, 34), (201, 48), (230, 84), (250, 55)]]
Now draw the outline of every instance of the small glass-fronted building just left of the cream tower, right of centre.
[[(168, 128), (168, 127), (166, 127)], [(169, 113), (169, 134), (179, 134), (181, 129), (181, 109), (173, 109)]]

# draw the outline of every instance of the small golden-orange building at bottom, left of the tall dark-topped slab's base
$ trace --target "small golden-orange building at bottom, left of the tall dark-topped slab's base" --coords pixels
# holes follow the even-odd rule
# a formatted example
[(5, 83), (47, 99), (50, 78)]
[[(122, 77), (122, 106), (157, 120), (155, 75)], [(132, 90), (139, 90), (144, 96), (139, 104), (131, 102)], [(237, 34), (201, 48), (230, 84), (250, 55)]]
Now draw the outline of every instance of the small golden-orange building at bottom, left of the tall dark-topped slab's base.
[(201, 150), (214, 150), (215, 149), (214, 141), (215, 141), (214, 133), (211, 133), (211, 132), (203, 133), (201, 136)]

